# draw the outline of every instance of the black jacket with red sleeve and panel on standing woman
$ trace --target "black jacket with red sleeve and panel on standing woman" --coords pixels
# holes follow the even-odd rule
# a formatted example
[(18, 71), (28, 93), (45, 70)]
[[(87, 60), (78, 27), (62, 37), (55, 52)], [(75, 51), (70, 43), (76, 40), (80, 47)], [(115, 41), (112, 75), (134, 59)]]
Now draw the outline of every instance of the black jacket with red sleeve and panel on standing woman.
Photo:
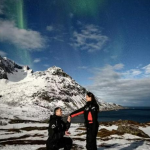
[(86, 103), (86, 105), (70, 114), (71, 117), (78, 116), (80, 114), (84, 114), (85, 119), (85, 126), (93, 128), (93, 134), (97, 131), (97, 128), (99, 126), (98, 123), (98, 112), (99, 108), (97, 105), (92, 103), (92, 101), (89, 101)]

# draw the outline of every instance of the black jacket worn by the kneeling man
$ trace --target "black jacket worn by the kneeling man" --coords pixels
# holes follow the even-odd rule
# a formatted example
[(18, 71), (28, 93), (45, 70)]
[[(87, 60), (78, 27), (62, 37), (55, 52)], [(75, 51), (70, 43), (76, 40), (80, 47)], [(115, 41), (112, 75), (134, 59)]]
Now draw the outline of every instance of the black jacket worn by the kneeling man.
[(57, 142), (65, 135), (65, 131), (70, 128), (70, 123), (65, 123), (62, 117), (51, 115), (49, 121), (48, 135), (49, 142)]

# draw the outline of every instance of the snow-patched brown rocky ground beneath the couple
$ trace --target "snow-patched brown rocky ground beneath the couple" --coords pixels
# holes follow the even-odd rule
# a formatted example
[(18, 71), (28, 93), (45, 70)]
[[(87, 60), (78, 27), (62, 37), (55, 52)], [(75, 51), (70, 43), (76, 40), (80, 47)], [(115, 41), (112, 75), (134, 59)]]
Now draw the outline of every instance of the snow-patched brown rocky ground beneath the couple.
[[(45, 150), (48, 123), (30, 120), (0, 121), (1, 150)], [(72, 150), (85, 149), (86, 130), (83, 124), (72, 123)], [(114, 121), (100, 123), (98, 150), (150, 149), (150, 123)]]

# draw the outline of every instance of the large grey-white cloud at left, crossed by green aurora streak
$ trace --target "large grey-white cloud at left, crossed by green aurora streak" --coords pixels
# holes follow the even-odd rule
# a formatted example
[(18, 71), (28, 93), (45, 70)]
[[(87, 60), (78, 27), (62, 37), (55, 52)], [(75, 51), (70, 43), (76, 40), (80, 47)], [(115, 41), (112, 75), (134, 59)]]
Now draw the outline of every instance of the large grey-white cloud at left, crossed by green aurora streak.
[(37, 31), (19, 29), (12, 21), (0, 20), (0, 41), (9, 42), (28, 50), (39, 50), (45, 47), (45, 38)]

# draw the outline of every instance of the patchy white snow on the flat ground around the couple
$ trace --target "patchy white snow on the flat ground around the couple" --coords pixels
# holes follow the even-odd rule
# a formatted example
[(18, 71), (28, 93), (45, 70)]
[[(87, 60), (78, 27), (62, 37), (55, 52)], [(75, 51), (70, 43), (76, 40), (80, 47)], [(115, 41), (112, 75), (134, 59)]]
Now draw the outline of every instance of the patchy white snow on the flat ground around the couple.
[[(26, 127), (31, 128), (31, 130), (26, 129)], [(43, 127), (43, 129), (38, 130), (40, 127)], [(48, 138), (46, 127), (48, 127), (47, 123), (16, 123), (0, 126), (0, 150), (37, 150), (38, 148), (45, 147), (44, 143)], [(102, 125), (99, 127), (99, 130), (103, 128), (111, 131), (116, 130), (117, 126), (107, 127)], [(16, 129), (19, 132), (16, 132)], [(140, 127), (140, 129), (143, 129), (143, 127)], [(150, 126), (147, 126), (143, 130), (149, 135), (149, 129)], [(78, 135), (85, 132), (83, 124), (72, 123), (69, 131), (71, 132), (70, 137), (73, 139), (73, 143), (78, 145), (77, 149), (86, 149), (86, 135)], [(12, 138), (11, 141), (9, 138)], [(38, 143), (32, 143), (32, 141), (36, 142), (36, 140)], [(12, 141), (18, 141), (18, 144), (11, 145), (10, 142)], [(21, 141), (27, 143), (20, 143)], [(3, 145), (2, 142), (6, 142), (6, 145)], [(97, 147), (98, 150), (150, 150), (150, 138), (144, 139), (131, 134), (111, 135), (105, 139), (97, 137)]]

